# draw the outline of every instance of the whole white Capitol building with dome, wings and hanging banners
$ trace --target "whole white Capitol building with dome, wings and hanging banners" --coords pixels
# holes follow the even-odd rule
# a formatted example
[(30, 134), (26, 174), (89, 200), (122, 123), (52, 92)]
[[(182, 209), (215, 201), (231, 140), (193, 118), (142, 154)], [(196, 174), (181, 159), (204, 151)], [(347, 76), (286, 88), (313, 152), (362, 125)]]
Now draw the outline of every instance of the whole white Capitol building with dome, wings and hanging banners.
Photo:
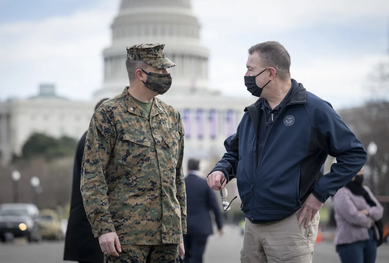
[(169, 69), (172, 87), (158, 97), (182, 116), (185, 159), (221, 157), (224, 140), (236, 132), (244, 108), (256, 98), (227, 97), (209, 86), (209, 51), (200, 44), (199, 32), (189, 0), (122, 0), (112, 24), (112, 45), (103, 51), (104, 81), (93, 100), (61, 98), (53, 84), (42, 84), (37, 96), (0, 103), (3, 161), (21, 154), (33, 132), (79, 139), (88, 128), (95, 103), (116, 96), (128, 86), (126, 47), (140, 43), (165, 44), (166, 57), (177, 65)]

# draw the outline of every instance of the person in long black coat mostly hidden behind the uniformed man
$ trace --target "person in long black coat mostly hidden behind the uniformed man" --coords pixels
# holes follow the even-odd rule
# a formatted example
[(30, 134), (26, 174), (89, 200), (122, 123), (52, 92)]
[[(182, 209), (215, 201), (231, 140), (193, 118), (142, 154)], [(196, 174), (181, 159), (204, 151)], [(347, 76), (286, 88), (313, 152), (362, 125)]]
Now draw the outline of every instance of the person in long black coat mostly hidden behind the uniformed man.
[[(96, 104), (95, 110), (106, 100), (108, 98), (100, 100)], [(86, 132), (78, 142), (74, 158), (72, 199), (70, 201), (70, 215), (63, 260), (78, 261), (79, 263), (103, 263), (104, 254), (101, 251), (98, 238), (93, 236), (80, 191), (85, 140)]]

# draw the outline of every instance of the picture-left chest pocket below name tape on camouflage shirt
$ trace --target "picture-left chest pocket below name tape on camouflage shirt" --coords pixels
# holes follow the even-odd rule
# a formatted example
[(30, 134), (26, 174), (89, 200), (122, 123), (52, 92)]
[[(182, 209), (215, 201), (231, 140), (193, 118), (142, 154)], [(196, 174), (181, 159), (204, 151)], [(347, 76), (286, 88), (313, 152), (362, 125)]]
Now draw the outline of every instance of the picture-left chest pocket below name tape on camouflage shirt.
[(135, 133), (124, 133), (117, 155), (117, 163), (140, 171), (151, 161), (151, 139)]

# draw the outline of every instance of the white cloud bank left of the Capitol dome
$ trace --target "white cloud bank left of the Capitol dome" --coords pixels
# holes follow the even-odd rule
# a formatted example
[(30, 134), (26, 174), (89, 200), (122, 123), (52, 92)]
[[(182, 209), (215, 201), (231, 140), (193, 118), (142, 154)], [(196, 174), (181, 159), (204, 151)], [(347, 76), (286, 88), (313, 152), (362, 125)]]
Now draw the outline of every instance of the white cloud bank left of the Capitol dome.
[(2, 98), (35, 94), (40, 82), (56, 83), (65, 96), (91, 97), (102, 84), (102, 49), (116, 12), (104, 0), (71, 16), (0, 24)]

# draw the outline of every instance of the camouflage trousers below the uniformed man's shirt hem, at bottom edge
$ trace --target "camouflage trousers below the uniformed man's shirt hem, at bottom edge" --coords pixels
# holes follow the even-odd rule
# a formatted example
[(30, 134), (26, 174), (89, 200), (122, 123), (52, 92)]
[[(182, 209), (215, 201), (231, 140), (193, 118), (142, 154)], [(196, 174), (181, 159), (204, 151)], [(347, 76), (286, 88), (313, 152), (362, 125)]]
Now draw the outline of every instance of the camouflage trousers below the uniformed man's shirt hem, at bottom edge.
[(119, 256), (104, 255), (104, 263), (179, 263), (178, 244), (123, 245)]

